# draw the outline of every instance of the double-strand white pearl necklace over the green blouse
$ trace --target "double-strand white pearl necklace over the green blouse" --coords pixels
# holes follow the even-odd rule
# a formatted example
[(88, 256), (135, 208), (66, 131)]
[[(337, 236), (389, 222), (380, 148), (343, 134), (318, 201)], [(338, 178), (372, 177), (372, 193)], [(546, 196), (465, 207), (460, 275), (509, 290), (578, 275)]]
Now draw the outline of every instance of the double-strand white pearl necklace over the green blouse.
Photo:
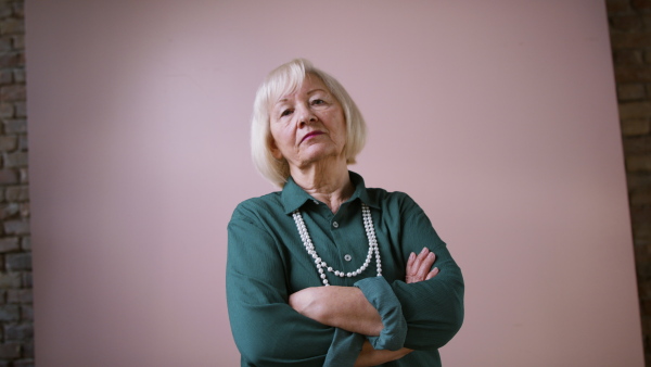
[(373, 228), (373, 218), (371, 217), (371, 210), (365, 203), (361, 203), (361, 216), (363, 218), (363, 227), (366, 228), (367, 237), (369, 238), (369, 252), (367, 254), (367, 258), (363, 264), (355, 271), (344, 273), (340, 270), (335, 270), (332, 266), (328, 266), (328, 264), (321, 260), (319, 254), (317, 254), (317, 250), (309, 238), (309, 233), (307, 232), (307, 228), (305, 227), (305, 222), (303, 222), (303, 216), (298, 210), (292, 213), (294, 217), (294, 222), (296, 223), (296, 228), (298, 229), (298, 235), (303, 240), (303, 244), (305, 245), (305, 250), (307, 253), (315, 260), (315, 265), (317, 266), (317, 271), (319, 271), (319, 276), (321, 277), (321, 281), (323, 286), (330, 286), (328, 283), (328, 278), (326, 277), (326, 270), (329, 273), (333, 273), (335, 277), (340, 278), (353, 278), (367, 269), (369, 264), (371, 263), (371, 257), (373, 253), (375, 253), (375, 264), (378, 267), (378, 277), (382, 276), (382, 262), (380, 261), (380, 250), (378, 249), (378, 239), (375, 238), (375, 229)]

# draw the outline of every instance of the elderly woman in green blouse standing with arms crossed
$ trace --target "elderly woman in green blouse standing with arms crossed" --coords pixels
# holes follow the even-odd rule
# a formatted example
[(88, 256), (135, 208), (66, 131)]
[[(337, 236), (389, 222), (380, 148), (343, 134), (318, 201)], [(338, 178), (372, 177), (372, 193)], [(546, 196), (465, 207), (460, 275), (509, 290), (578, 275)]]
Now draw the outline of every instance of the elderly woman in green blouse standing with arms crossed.
[(346, 90), (306, 60), (258, 89), (253, 161), (282, 191), (228, 225), (242, 366), (441, 366), (463, 319), (461, 271), (411, 198), (348, 170), (365, 137)]

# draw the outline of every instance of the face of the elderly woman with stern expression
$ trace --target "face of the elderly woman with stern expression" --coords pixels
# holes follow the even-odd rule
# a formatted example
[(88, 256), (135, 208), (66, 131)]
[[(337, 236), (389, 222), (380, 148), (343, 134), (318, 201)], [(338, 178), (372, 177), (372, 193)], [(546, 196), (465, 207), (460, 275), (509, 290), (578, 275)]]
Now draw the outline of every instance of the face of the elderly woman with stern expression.
[(271, 153), (303, 168), (328, 157), (343, 156), (346, 122), (340, 102), (318, 76), (306, 75), (294, 93), (271, 107)]

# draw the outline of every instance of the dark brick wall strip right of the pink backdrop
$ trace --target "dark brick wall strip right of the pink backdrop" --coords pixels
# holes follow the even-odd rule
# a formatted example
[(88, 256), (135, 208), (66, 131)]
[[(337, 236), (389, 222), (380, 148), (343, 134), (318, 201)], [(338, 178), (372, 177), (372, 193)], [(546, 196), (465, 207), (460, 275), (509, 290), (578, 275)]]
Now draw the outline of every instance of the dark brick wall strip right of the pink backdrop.
[(651, 0), (608, 0), (644, 359), (651, 366)]

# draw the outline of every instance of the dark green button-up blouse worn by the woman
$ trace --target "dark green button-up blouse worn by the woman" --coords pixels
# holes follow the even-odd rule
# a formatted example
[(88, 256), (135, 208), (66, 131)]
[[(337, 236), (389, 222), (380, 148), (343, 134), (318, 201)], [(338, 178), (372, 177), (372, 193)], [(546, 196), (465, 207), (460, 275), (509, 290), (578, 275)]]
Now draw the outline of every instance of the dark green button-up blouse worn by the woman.
[[(366, 260), (368, 239), (361, 202), (371, 208), (382, 256), (357, 277), (328, 273), (332, 286), (359, 287), (384, 324), (375, 349), (414, 350), (383, 366), (441, 366), (438, 349), (463, 321), (461, 270), (425, 213), (403, 192), (367, 189), (350, 172), (355, 193), (333, 214), (290, 177), (282, 191), (246, 200), (228, 225), (227, 302), (242, 366), (353, 366), (363, 336), (324, 326), (289, 306), (290, 294), (321, 287), (314, 260), (298, 236), (292, 212), (301, 210), (319, 255), (329, 266), (356, 270)], [(439, 274), (406, 283), (411, 252), (436, 254)]]

